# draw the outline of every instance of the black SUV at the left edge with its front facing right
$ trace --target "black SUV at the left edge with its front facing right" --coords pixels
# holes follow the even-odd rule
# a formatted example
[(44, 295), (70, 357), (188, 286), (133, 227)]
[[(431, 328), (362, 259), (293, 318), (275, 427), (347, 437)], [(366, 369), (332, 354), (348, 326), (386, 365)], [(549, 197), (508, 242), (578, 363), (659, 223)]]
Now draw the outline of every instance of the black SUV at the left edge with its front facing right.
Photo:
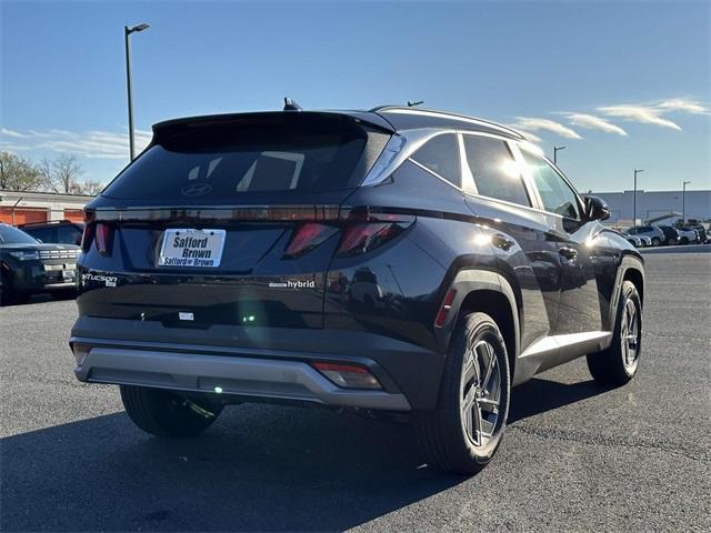
[(70, 244), (42, 244), (22, 230), (0, 223), (2, 304), (22, 303), (42, 292), (56, 299), (73, 296), (79, 251)]

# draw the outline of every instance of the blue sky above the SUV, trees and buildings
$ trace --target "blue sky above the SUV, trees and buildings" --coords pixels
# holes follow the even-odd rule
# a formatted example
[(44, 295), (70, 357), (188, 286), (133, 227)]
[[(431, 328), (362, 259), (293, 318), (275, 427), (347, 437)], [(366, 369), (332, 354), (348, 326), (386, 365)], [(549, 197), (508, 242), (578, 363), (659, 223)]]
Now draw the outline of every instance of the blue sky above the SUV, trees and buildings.
[(0, 0), (0, 149), (128, 162), (123, 24), (139, 143), (188, 114), (425, 100), (554, 144), (581, 190), (711, 188), (711, 3)]

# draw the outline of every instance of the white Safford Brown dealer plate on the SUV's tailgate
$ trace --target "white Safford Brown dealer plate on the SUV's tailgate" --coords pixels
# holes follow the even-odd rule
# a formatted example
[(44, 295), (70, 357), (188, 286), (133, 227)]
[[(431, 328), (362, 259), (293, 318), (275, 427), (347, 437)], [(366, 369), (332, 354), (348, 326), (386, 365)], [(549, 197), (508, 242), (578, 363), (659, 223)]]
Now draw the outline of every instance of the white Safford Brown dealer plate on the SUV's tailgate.
[(226, 237), (219, 229), (170, 228), (163, 232), (158, 265), (216, 269), (222, 263)]

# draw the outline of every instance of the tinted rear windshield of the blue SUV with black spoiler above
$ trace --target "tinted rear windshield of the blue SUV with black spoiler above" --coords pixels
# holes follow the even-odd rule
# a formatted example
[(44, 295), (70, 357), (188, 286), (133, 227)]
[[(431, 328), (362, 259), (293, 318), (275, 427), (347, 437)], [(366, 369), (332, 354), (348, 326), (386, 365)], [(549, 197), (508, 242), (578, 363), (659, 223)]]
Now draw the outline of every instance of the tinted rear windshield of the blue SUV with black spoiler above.
[(357, 187), (389, 135), (344, 117), (262, 115), (177, 127), (103, 191), (118, 199), (229, 200)]

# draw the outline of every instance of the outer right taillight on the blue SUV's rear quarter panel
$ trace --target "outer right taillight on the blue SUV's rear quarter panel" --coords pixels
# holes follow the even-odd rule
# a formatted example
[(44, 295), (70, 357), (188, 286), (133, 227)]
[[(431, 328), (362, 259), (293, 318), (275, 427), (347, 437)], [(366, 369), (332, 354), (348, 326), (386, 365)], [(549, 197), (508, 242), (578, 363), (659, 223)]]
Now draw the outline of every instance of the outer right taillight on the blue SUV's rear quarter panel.
[[(365, 218), (365, 221), (359, 220)], [(369, 214), (368, 217), (352, 217), (347, 225), (338, 248), (337, 255), (350, 257), (365, 253), (401, 234), (412, 222), (414, 217), (400, 214)]]

